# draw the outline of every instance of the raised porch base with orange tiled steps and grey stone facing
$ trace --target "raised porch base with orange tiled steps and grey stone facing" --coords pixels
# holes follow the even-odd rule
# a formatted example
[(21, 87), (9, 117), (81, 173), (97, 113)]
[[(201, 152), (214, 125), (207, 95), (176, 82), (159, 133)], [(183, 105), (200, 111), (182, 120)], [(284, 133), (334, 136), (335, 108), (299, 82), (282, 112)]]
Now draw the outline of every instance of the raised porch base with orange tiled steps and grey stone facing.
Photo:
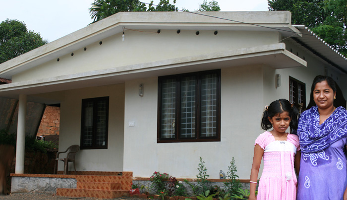
[(129, 193), (132, 183), (132, 172), (70, 173), (11, 174), (11, 193), (40, 192), (64, 197), (112, 199)]

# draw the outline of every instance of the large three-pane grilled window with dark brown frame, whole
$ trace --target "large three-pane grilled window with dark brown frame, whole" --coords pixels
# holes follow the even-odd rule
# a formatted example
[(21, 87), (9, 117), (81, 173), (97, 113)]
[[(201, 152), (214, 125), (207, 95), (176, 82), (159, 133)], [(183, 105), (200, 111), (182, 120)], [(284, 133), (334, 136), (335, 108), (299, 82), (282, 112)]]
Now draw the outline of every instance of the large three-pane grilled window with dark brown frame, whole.
[(220, 141), (220, 70), (159, 77), (158, 142)]

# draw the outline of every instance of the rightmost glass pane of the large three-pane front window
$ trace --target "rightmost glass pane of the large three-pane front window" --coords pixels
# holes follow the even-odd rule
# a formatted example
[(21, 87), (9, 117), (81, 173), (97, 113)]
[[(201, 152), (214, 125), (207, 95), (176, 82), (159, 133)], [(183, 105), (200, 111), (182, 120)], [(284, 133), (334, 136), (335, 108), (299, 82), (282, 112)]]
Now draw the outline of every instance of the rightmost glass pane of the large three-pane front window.
[(201, 133), (202, 137), (217, 136), (217, 74), (201, 78)]

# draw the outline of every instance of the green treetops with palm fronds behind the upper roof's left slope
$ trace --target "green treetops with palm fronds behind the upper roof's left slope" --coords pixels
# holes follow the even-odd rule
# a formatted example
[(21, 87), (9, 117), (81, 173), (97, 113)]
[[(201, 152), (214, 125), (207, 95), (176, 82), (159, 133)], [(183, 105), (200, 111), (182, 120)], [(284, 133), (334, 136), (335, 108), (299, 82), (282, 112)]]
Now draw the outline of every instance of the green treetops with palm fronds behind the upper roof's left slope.
[(148, 4), (139, 0), (94, 0), (92, 7), (89, 8), (89, 13), (93, 19), (93, 23), (104, 19), (117, 12), (132, 12), (132, 11), (177, 11), (175, 7), (176, 0), (173, 4), (169, 0), (160, 0), (159, 4), (154, 7), (153, 0)]

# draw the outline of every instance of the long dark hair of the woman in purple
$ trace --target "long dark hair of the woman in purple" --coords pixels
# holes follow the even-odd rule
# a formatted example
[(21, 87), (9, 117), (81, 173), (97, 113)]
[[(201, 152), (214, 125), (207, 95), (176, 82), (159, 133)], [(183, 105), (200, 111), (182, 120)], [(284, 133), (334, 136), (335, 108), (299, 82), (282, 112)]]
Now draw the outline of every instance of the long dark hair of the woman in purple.
[(327, 81), (329, 87), (333, 89), (333, 92), (336, 92), (336, 99), (334, 100), (334, 106), (336, 108), (340, 106), (346, 108), (346, 100), (344, 98), (344, 95), (342, 94), (342, 90), (340, 89), (339, 85), (335, 82), (335, 80), (330, 76), (318, 75), (313, 79), (313, 83), (311, 86), (311, 93), (310, 93), (310, 102), (308, 103), (306, 110), (316, 105), (313, 99), (313, 90), (316, 87), (316, 84), (322, 81)]

